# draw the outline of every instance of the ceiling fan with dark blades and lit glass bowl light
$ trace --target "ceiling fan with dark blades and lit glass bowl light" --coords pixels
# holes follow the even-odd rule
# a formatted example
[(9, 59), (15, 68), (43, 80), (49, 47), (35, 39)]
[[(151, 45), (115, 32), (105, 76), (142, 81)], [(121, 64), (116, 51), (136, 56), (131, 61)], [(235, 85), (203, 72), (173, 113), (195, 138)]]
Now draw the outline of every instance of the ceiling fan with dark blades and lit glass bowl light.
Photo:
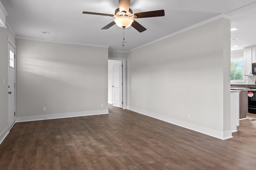
[(164, 10), (148, 11), (148, 12), (138, 12), (133, 13), (130, 9), (130, 0), (119, 0), (119, 8), (115, 10), (115, 14), (102, 14), (96, 12), (83, 12), (83, 14), (93, 14), (100, 16), (110, 16), (114, 17), (114, 21), (103, 27), (102, 29), (108, 29), (113, 25), (118, 25), (121, 28), (127, 28), (130, 25), (134, 27), (139, 32), (146, 31), (146, 28), (140, 25), (134, 18), (148, 18), (148, 17), (159, 17), (164, 16)]

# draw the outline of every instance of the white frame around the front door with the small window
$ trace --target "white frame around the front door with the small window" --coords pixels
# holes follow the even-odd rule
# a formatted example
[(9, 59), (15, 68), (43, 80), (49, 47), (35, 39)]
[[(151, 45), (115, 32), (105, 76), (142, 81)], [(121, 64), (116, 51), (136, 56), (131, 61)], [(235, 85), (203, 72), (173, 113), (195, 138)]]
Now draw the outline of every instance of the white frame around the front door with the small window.
[[(14, 43), (11, 41), (11, 39), (9, 37), (7, 37), (7, 63), (6, 65), (8, 66), (8, 60), (9, 60), (9, 56), (8, 56), (8, 50), (9, 50), (9, 44), (14, 48), (14, 83), (15, 83), (15, 86), (14, 86), (14, 112), (15, 112), (15, 115), (14, 115), (14, 123), (13, 125), (16, 123), (16, 45), (14, 45)], [(7, 93), (8, 93), (8, 67), (7, 67)], [(8, 98), (7, 98), (8, 99)], [(7, 122), (9, 123), (9, 108), (8, 108), (8, 103), (9, 100), (7, 100)], [(8, 127), (8, 131), (10, 131), (10, 129), (12, 129), (13, 125), (9, 128)]]

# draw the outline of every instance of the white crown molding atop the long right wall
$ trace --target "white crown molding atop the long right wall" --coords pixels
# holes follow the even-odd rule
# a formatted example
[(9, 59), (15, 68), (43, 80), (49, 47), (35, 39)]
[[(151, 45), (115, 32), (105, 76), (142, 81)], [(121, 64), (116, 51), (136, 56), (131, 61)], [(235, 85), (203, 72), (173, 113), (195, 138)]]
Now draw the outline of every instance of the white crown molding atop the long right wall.
[(154, 41), (151, 41), (151, 42), (149, 42), (149, 43), (146, 43), (146, 44), (144, 44), (144, 45), (141, 45), (141, 46), (139, 46), (139, 47), (136, 47), (136, 48), (134, 48), (134, 49), (131, 49), (131, 50), (127, 51), (126, 53), (132, 52), (132, 51), (137, 50), (137, 49), (140, 49), (140, 48), (142, 48), (142, 47), (146, 47), (146, 46), (148, 46), (148, 45), (150, 45), (150, 44), (156, 43), (156, 42), (158, 42), (158, 41), (162, 41), (162, 40), (167, 39), (167, 38), (169, 38), (169, 37), (173, 37), (174, 35), (183, 33), (183, 32), (185, 32), (185, 31), (188, 31), (188, 30), (190, 30), (190, 29), (199, 27), (199, 26), (204, 25), (204, 24), (206, 24), (206, 23), (210, 23), (210, 22), (215, 21), (215, 20), (218, 20), (218, 19), (220, 19), (220, 18), (227, 18), (227, 19), (230, 19), (231, 17), (230, 17), (230, 16), (227, 16), (227, 15), (225, 15), (225, 14), (220, 14), (220, 15), (215, 16), (215, 17), (213, 17), (213, 18), (210, 18), (210, 19), (208, 19), (208, 20), (204, 20), (204, 21), (202, 21), (202, 22), (199, 22), (199, 23), (196, 23), (196, 24), (194, 24), (194, 25), (191, 25), (190, 27), (186, 27), (186, 28), (184, 28), (184, 29), (181, 29), (181, 30), (179, 30), (179, 31), (176, 31), (176, 32), (174, 32), (174, 33), (172, 33), (172, 34), (170, 34), (170, 35), (166, 35), (166, 36), (164, 36), (164, 37), (162, 37), (162, 38), (156, 39), (156, 40), (154, 40)]

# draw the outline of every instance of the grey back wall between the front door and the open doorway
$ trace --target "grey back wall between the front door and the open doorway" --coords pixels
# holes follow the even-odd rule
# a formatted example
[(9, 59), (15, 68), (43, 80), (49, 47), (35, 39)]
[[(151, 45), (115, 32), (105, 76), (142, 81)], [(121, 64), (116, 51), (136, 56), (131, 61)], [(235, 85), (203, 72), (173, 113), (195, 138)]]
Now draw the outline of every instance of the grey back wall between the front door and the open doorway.
[(24, 39), (16, 47), (18, 121), (108, 113), (108, 48)]

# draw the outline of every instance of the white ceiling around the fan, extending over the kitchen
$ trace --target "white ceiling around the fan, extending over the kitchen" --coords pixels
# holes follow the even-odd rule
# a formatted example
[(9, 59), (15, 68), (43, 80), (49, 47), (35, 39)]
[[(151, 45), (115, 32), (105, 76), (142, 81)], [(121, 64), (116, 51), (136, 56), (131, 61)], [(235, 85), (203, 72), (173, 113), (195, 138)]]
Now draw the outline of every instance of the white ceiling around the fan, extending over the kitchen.
[[(231, 17), (231, 50), (256, 45), (256, 0), (131, 0), (133, 12), (164, 10), (164, 17), (138, 18), (146, 31), (114, 25), (109, 16), (82, 14), (83, 11), (114, 14), (118, 0), (0, 0), (8, 13), (6, 21), (17, 38), (80, 45), (109, 46), (109, 51), (127, 52), (220, 14)], [(48, 31), (50, 34), (43, 34)]]

